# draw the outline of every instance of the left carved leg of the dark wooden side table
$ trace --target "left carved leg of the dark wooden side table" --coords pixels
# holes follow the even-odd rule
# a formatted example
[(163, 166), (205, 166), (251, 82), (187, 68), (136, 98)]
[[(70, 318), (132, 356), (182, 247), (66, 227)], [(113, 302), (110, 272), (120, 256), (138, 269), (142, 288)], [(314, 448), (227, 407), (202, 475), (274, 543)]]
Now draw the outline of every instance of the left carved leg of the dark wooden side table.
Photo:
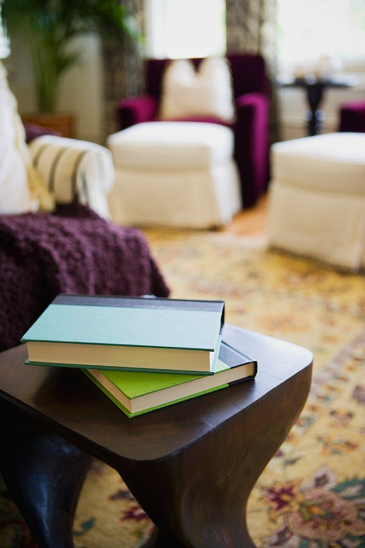
[(72, 548), (72, 523), (91, 457), (22, 420), (2, 427), (0, 469), (40, 548)]

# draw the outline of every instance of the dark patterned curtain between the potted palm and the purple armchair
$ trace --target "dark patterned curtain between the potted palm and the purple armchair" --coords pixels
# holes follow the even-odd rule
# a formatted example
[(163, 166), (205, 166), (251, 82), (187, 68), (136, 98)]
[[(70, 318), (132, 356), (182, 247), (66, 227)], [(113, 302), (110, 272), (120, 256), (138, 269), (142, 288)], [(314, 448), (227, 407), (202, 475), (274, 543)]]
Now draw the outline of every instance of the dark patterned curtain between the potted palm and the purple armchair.
[[(138, 22), (142, 32), (145, 28), (144, 0), (120, 0)], [(143, 90), (144, 77), (140, 49), (133, 45), (122, 48), (114, 41), (102, 43), (104, 64), (104, 135), (118, 130), (116, 104), (129, 95), (138, 95)]]

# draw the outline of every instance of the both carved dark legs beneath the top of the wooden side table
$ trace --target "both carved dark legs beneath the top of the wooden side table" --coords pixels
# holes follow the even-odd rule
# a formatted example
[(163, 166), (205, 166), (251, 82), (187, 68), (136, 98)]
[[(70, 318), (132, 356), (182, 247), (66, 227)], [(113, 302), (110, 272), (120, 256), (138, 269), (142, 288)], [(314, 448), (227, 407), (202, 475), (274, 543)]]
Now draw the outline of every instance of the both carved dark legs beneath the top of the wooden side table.
[[(236, 415), (179, 455), (117, 467), (151, 519), (186, 539), (181, 544), (155, 532), (145, 548), (254, 547), (246, 526), (248, 496), (306, 396), (285, 392), (273, 391), (265, 402), (271, 415), (285, 410), (277, 429), (269, 427), (260, 404), (253, 405), (244, 418)], [(283, 398), (285, 404), (278, 406)], [(2, 407), (2, 416), (14, 414)], [(1, 437), (1, 471), (39, 547), (72, 548), (73, 517), (91, 457), (21, 415), (3, 426)]]

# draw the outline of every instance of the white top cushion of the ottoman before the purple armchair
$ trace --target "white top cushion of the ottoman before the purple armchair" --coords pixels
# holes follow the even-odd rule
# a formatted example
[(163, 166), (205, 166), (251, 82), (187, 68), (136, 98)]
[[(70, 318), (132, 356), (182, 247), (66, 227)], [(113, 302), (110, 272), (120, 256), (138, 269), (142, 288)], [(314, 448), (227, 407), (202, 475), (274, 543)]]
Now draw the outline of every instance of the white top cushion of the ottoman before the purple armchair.
[(230, 160), (234, 138), (224, 125), (202, 122), (146, 122), (110, 135), (117, 167), (205, 169)]

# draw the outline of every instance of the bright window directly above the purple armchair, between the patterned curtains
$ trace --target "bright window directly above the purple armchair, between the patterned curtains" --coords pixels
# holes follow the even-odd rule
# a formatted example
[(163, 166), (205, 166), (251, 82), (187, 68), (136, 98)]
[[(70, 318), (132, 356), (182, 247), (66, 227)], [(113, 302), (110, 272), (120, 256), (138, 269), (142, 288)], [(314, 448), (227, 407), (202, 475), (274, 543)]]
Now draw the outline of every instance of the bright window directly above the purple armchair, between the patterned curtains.
[(147, 49), (156, 58), (224, 55), (225, 0), (147, 0)]

